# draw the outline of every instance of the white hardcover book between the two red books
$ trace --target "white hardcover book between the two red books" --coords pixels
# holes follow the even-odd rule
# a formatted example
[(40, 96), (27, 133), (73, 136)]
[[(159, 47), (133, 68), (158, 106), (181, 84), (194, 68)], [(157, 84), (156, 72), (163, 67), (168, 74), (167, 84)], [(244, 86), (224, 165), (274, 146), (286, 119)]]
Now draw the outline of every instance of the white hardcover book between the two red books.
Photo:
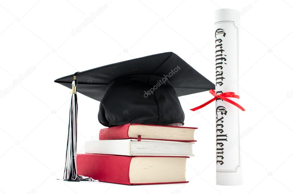
[(114, 139), (85, 142), (87, 154), (124, 156), (194, 156), (193, 142), (142, 139)]

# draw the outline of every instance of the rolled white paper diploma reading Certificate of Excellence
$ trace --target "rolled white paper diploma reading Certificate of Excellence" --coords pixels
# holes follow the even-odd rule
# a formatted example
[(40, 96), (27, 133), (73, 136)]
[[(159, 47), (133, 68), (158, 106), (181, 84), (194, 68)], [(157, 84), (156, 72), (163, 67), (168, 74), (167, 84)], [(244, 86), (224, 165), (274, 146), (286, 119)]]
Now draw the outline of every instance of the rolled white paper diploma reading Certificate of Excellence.
[[(238, 94), (239, 11), (215, 11), (216, 93)], [(237, 98), (229, 98), (238, 103)], [(216, 184), (241, 185), (239, 111), (221, 99), (216, 100)]]

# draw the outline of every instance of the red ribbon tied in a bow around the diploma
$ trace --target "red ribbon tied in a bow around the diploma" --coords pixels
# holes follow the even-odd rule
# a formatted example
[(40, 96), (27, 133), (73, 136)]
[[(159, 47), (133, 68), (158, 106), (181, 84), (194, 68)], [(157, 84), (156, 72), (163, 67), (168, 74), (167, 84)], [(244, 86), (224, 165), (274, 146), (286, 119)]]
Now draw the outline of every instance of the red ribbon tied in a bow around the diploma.
[[(221, 94), (217, 95), (216, 92), (215, 92), (214, 90), (210, 89), (210, 90), (209, 90), (209, 93), (211, 93), (211, 94), (214, 96), (213, 99), (207, 101), (206, 103), (204, 103), (204, 104), (202, 104), (202, 105), (200, 105), (200, 106), (198, 106), (198, 107), (195, 107), (195, 108), (193, 108), (193, 109), (190, 109), (190, 110), (192, 110), (192, 111), (198, 110), (198, 109), (200, 109), (200, 108), (202, 108), (202, 107), (205, 107), (205, 106), (208, 105), (209, 103), (211, 103), (211, 102), (217, 100), (218, 98), (220, 98), (220, 99), (222, 99), (222, 100), (224, 100), (224, 101), (226, 101), (226, 102), (229, 102), (229, 103), (233, 104), (234, 106), (237, 106), (237, 107), (240, 108), (241, 110), (245, 111), (245, 109), (244, 109), (242, 106), (240, 106), (240, 105), (237, 104), (236, 102), (234, 102), (234, 101), (228, 99), (228, 98), (238, 98), (238, 99), (239, 99), (239, 96), (238, 96), (238, 95), (235, 95), (235, 92), (225, 92), (225, 93), (221, 93)], [(228, 98), (227, 98), (227, 97), (228, 97)]]

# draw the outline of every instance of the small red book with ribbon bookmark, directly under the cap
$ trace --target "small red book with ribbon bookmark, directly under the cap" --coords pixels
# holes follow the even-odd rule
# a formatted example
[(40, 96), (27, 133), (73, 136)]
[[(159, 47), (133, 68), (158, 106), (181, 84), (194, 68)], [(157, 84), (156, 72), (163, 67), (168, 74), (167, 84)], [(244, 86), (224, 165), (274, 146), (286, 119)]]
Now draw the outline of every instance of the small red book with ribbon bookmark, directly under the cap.
[[(111, 139), (156, 139), (178, 142), (196, 142), (196, 127), (177, 127), (164, 125), (125, 124), (100, 130), (100, 140)], [(140, 136), (140, 137), (139, 137)]]

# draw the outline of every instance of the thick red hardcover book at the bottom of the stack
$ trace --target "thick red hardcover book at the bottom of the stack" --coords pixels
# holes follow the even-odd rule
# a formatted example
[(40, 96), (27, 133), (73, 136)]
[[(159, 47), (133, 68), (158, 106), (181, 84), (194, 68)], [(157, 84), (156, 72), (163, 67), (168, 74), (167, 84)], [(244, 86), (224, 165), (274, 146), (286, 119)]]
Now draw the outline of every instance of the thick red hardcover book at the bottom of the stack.
[(77, 172), (93, 179), (125, 185), (188, 183), (187, 156), (118, 156), (77, 154)]

